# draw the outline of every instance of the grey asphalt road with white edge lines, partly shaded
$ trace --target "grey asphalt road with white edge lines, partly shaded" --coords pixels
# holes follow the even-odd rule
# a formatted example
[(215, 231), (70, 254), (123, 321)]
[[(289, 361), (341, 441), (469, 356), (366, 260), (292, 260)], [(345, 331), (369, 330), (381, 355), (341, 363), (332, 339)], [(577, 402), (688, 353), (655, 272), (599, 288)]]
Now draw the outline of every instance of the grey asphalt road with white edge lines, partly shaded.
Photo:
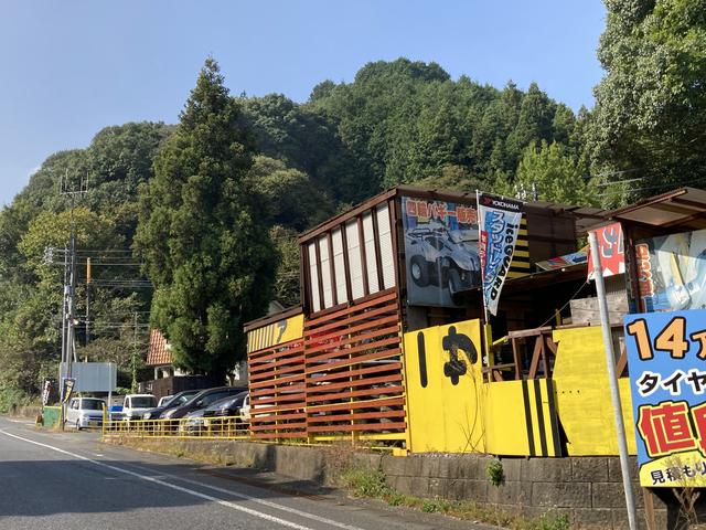
[(0, 530), (481, 528), (336, 495), (291, 496), (284, 491), (296, 484), (259, 487), (244, 473), (0, 417)]

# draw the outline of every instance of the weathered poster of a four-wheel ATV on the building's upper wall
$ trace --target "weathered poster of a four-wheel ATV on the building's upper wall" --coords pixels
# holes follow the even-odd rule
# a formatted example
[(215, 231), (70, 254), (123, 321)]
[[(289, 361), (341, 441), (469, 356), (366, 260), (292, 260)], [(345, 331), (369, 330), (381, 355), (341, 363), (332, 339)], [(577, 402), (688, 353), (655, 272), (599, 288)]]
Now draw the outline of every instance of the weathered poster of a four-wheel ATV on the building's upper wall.
[(459, 307), (454, 295), (481, 285), (475, 208), (403, 197), (402, 211), (407, 304)]

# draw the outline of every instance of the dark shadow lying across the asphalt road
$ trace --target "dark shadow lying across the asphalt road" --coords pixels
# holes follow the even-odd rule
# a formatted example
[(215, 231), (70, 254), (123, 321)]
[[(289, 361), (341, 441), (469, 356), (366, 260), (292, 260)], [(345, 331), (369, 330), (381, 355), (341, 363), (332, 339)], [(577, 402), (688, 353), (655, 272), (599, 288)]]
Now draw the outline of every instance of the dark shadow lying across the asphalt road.
[[(183, 508), (213, 501), (171, 488), (165, 484), (234, 504), (248, 502), (240, 497), (242, 495), (272, 500), (298, 495), (298, 492), (301, 495), (301, 491), (311, 488), (310, 484), (300, 480), (261, 481), (258, 480), (257, 473), (252, 469), (214, 469), (193, 463), (146, 464), (116, 460), (103, 463), (117, 469), (76, 459), (0, 462), (0, 518), (43, 517), (58, 513), (110, 513), (141, 508)], [(139, 478), (118, 469), (143, 475), (153, 480)], [(172, 476), (191, 480), (191, 483)], [(236, 491), (240, 496), (216, 491), (204, 485)], [(327, 491), (319, 488), (317, 492), (325, 494)], [(315, 495), (307, 495), (307, 497), (315, 497)]]

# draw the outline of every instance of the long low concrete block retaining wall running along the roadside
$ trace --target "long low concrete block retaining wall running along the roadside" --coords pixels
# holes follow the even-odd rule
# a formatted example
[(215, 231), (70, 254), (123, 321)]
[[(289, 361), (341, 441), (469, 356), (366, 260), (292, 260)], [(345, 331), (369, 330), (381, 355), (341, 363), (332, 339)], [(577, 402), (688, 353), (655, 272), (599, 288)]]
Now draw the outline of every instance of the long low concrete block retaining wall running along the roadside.
[[(490, 457), (479, 455), (414, 455), (395, 457), (353, 453), (350, 447), (296, 447), (249, 442), (139, 441), (154, 451), (181, 447), (190, 453), (217, 456), (218, 462), (278, 473), (291, 478), (336, 485), (350, 467), (381, 469), (398, 491), (416, 497), (473, 500), (510, 513), (537, 517), (547, 511), (566, 513), (575, 528), (628, 528), (620, 460), (618, 457), (502, 458), (504, 479), (490, 483)], [(646, 528), (644, 498), (631, 462), (640, 528)], [(678, 506), (666, 489), (653, 495), (656, 528), (676, 527)]]

